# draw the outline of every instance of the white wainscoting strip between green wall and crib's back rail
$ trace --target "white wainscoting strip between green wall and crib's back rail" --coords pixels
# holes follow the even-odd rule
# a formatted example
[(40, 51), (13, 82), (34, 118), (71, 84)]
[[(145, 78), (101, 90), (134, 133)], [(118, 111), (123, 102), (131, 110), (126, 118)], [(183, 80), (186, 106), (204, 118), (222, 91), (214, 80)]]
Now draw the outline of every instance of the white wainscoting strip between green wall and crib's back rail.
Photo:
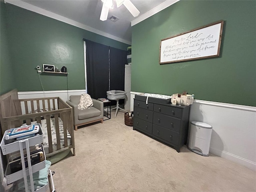
[(81, 95), (87, 93), (86, 90), (58, 90), (58, 91), (28, 91), (18, 92), (19, 99), (42, 98), (42, 97), (60, 97), (66, 102), (70, 95)]

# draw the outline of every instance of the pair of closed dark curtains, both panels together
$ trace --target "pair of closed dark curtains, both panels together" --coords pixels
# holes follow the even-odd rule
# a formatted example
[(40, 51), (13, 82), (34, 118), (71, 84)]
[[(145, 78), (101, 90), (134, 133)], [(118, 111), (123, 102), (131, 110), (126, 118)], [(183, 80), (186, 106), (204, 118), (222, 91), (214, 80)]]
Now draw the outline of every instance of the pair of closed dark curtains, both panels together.
[[(87, 92), (92, 98), (106, 98), (108, 90), (124, 90), (125, 50), (112, 48), (90, 40), (86, 42)], [(110, 82), (110, 84), (109, 84)], [(123, 101), (120, 101), (122, 104)], [(114, 105), (116, 102), (111, 102)]]

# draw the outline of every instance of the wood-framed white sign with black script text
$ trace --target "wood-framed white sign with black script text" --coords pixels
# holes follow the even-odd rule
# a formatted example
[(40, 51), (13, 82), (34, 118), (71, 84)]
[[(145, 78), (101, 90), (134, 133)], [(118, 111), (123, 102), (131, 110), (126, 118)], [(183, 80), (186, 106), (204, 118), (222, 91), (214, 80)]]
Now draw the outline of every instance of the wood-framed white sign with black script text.
[(160, 41), (160, 64), (220, 56), (224, 21), (196, 28)]

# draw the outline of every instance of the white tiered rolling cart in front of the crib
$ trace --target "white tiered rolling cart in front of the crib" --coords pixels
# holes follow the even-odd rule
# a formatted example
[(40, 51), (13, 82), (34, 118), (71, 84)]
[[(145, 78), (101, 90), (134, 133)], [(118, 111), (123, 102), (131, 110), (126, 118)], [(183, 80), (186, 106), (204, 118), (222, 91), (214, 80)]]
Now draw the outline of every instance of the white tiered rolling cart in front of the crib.
[[(47, 184), (42, 186), (39, 189), (34, 189), (34, 181), (33, 181), (33, 176), (32, 174), (44, 169), (46, 167), (46, 156), (44, 153), (44, 147), (41, 144), (43, 142), (43, 132), (40, 124), (37, 124), (40, 126), (39, 129), (39, 135), (33, 136), (31, 138), (26, 138), (23, 140), (15, 141), (13, 140), (5, 140), (5, 136), (7, 134), (7, 131), (4, 132), (4, 136), (2, 138), (2, 141), (0, 143), (1, 149), (2, 149), (2, 154), (3, 155), (8, 155), (12, 152), (17, 152), (20, 151), (20, 158), (21, 158), (21, 164), (22, 164), (22, 170), (16, 171), (16, 172), (11, 172), (10, 166), (9, 166), (9, 161), (8, 160), (8, 165), (6, 167), (5, 171), (5, 178), (7, 184), (12, 184), (13, 182), (23, 178), (24, 179), (24, 186), (25, 186), (25, 191), (28, 192), (29, 189), (31, 191), (36, 191), (36, 192), (48, 192), (51, 191), (54, 192), (54, 182), (52, 179), (52, 171), (48, 170), (48, 179), (47, 179)], [(36, 144), (40, 144), (43, 150), (43, 160), (35, 165), (31, 165), (31, 159), (30, 159), (30, 147), (35, 146)], [(27, 162), (28, 162), (28, 167), (26, 168), (25, 166), (25, 158), (24, 158), (24, 149), (26, 149), (26, 154), (27, 154)], [(27, 181), (27, 176), (29, 176), (30, 180), (30, 187), (28, 187), (28, 181)], [(50, 187), (49, 187), (49, 182), (50, 182)]]

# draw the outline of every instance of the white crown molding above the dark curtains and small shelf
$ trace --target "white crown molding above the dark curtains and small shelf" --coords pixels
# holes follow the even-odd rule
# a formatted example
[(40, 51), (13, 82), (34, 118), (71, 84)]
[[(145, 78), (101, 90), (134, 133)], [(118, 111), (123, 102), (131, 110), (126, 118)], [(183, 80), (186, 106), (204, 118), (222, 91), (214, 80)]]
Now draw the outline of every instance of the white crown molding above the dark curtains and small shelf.
[(44, 10), (42, 8), (36, 7), (34, 5), (28, 4), (28, 3), (23, 2), (21, 0), (15, 0), (15, 1), (14, 0), (5, 0), (4, 2), (12, 4), (12, 5), (15, 5), (15, 6), (18, 6), (18, 7), (21, 7), (21, 8), (24, 8), (26, 10), (30, 10), (32, 12), (36, 12), (38, 14), (41, 14), (41, 15), (53, 18), (55, 20), (58, 20), (58, 21), (70, 24), (72, 26), (76, 26), (78, 28), (81, 28), (81, 29), (84, 29), (84, 30), (87, 30), (87, 31), (90, 31), (90, 32), (93, 32), (93, 33), (96, 33), (98, 35), (102, 35), (104, 37), (107, 37), (107, 38), (110, 38), (110, 39), (113, 39), (113, 40), (116, 40), (116, 41), (119, 41), (119, 42), (122, 42), (122, 43), (126, 43), (126, 44), (129, 44), (129, 45), (132, 44), (132, 42), (130, 42), (128, 40), (125, 40), (125, 39), (122, 39), (120, 37), (108, 34), (106, 32), (100, 31), (98, 29), (92, 28), (90, 26), (84, 25), (82, 23), (76, 22), (74, 20), (68, 19), (66, 17), (60, 16), (58, 14), (52, 13), (52, 12)]

